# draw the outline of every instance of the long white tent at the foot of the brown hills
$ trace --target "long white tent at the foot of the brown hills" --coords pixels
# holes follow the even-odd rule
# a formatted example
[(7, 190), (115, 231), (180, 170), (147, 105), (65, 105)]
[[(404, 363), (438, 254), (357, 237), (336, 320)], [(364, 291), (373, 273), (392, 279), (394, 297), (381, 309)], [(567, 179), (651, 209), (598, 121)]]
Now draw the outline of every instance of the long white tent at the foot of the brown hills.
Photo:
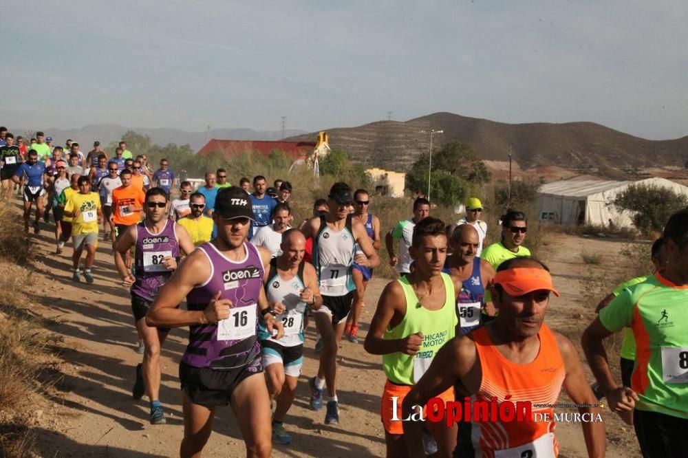
[(614, 197), (631, 184), (671, 188), (674, 193), (688, 196), (688, 187), (664, 178), (647, 178), (637, 182), (564, 180), (541, 186), (537, 217), (541, 221), (567, 225), (607, 226), (611, 219), (617, 227), (632, 226), (628, 212), (620, 213), (610, 205)]

